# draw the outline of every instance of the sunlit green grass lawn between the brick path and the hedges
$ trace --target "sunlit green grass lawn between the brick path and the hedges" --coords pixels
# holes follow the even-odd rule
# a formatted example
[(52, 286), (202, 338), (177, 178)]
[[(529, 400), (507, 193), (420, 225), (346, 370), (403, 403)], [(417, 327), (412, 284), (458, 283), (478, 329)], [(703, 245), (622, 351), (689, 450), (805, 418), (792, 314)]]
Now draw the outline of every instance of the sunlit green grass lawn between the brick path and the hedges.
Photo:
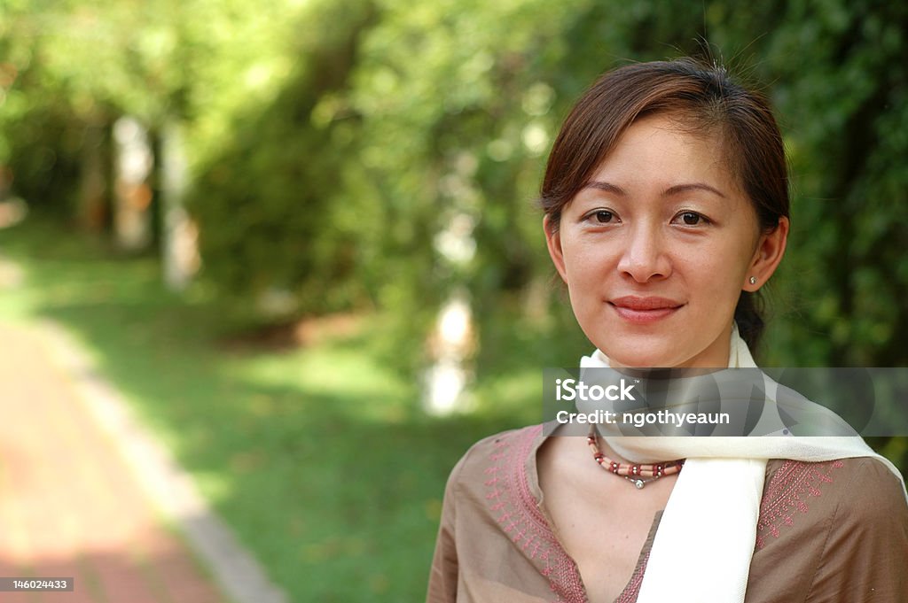
[(239, 345), (202, 291), (164, 291), (153, 259), (36, 219), (0, 230), (0, 253), (23, 268), (0, 319), (74, 333), (294, 601), (422, 600), (449, 470), (538, 421), (537, 365), (483, 384), (469, 418), (431, 420), (372, 351), (370, 321)]

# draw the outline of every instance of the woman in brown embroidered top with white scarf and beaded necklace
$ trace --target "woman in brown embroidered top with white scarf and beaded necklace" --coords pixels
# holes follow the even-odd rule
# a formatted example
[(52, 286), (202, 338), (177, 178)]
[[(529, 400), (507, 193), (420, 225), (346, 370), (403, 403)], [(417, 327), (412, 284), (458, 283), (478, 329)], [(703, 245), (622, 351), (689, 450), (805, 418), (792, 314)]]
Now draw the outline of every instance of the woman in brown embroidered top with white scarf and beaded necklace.
[[(568, 115), (541, 199), (598, 348), (582, 365), (755, 366), (754, 296), (789, 226), (762, 96), (689, 60), (607, 73)], [(906, 601), (906, 567), (903, 481), (860, 438), (537, 425), (477, 443), (451, 473), (428, 599)]]

